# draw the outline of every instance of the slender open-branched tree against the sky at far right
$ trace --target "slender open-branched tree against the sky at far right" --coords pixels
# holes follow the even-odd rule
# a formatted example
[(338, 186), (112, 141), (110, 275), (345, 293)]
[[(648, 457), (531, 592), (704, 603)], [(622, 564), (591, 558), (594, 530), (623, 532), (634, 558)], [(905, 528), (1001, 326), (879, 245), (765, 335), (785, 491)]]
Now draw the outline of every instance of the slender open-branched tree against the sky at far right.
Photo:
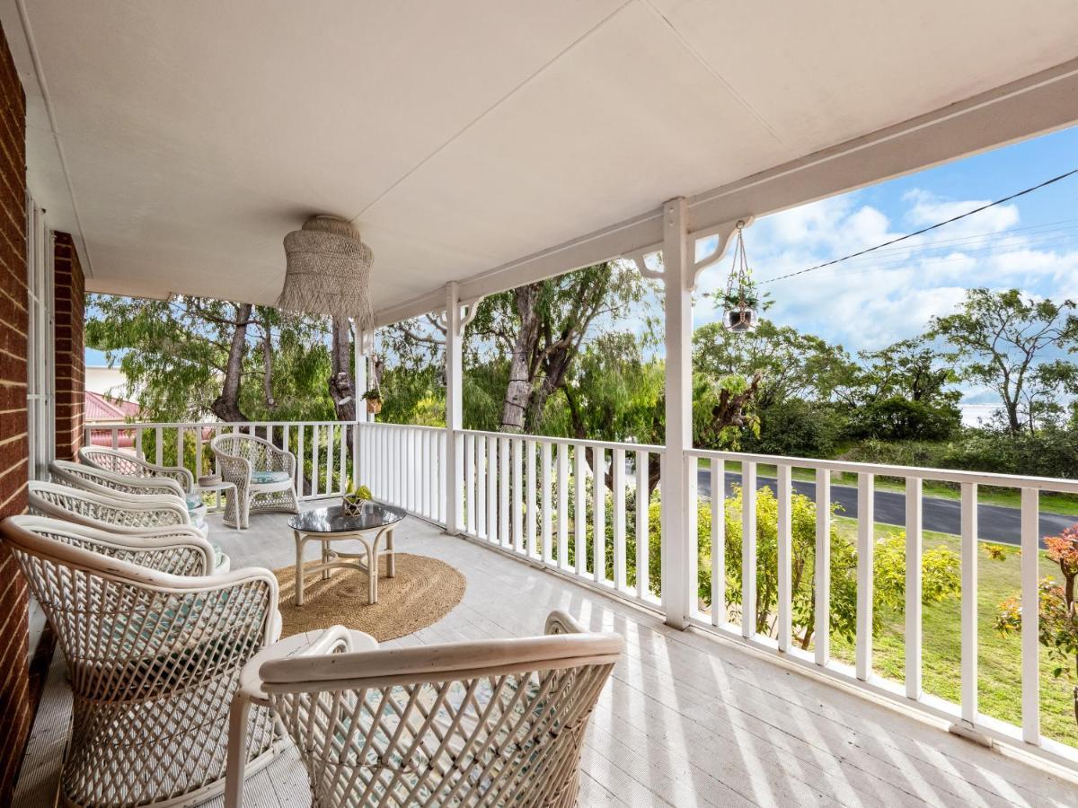
[(1061, 398), (1078, 389), (1075, 303), (1036, 301), (1017, 290), (970, 289), (958, 311), (932, 319), (928, 338), (943, 339), (959, 375), (992, 388), (1011, 434), (1060, 417)]

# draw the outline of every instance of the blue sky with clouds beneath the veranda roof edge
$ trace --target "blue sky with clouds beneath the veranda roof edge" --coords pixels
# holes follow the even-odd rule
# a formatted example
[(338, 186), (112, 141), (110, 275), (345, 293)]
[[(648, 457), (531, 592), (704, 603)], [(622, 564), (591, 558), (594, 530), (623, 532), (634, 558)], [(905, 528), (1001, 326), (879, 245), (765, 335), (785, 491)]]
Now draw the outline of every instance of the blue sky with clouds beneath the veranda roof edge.
[[(1078, 168), (1078, 127), (937, 166), (757, 220), (745, 248), (758, 282), (872, 247)], [(922, 333), (971, 287), (1078, 299), (1078, 176), (902, 245), (762, 283), (766, 317), (852, 353)], [(724, 288), (730, 257), (699, 290)], [(718, 319), (704, 298), (697, 325)], [(968, 404), (996, 403), (964, 389)]]

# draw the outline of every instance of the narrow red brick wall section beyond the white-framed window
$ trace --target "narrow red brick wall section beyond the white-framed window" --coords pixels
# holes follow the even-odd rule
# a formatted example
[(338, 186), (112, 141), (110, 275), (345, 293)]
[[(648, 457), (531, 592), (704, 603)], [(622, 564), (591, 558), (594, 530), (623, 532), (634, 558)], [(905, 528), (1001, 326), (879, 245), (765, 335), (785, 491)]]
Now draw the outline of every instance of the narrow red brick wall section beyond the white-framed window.
[(85, 281), (71, 236), (56, 233), (54, 243), (56, 319), (56, 457), (74, 460), (82, 444), (84, 408), (83, 321)]

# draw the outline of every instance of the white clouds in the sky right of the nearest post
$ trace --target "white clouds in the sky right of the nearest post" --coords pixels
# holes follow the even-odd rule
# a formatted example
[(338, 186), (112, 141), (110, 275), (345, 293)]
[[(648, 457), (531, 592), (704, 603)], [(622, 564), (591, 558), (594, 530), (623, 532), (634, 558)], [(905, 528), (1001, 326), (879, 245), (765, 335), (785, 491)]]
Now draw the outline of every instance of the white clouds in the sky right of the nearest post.
[[(759, 220), (745, 232), (757, 280), (881, 245), (984, 204), (915, 190), (902, 197), (896, 223), (877, 207), (858, 205), (860, 196), (825, 199)], [(954, 310), (971, 287), (1078, 298), (1078, 251), (1055, 251), (1051, 238), (1015, 229), (1020, 223), (1017, 204), (1000, 205), (833, 267), (764, 282), (773, 301), (768, 316), (857, 351), (923, 333), (934, 316)], [(728, 255), (703, 274), (701, 291), (723, 289), (729, 268)], [(697, 323), (718, 318), (710, 309), (707, 301), (697, 306)]]

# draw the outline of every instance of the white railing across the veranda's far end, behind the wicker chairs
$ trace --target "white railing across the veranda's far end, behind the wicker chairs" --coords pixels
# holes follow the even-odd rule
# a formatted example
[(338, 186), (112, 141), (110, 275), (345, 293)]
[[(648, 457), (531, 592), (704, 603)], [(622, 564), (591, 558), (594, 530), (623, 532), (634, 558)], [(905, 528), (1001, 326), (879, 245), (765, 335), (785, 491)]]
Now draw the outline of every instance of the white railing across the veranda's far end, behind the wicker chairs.
[(348, 432), (341, 421), (249, 421), (225, 423), (87, 423), (84, 442), (127, 448), (158, 464), (183, 465), (195, 477), (213, 471), (209, 443), (217, 435), (241, 432), (272, 437), (296, 457), (300, 499), (340, 497), (351, 474)]

